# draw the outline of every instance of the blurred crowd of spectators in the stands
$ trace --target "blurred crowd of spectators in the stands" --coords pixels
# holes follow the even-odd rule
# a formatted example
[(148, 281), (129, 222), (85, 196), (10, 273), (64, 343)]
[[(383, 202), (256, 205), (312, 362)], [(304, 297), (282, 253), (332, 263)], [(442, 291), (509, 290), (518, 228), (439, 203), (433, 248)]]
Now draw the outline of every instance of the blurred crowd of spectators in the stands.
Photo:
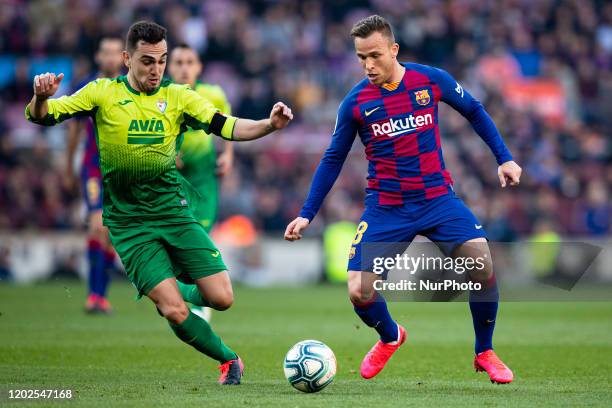
[[(234, 114), (265, 117), (277, 100), (293, 108), (287, 131), (238, 146), (222, 187), (222, 219), (244, 214), (280, 237), (306, 197), (338, 104), (363, 78), (350, 28), (377, 13), (394, 26), (400, 60), (446, 69), (483, 102), (523, 167), (520, 187), (502, 190), (484, 142), (443, 108), (446, 166), (490, 239), (610, 233), (611, 2), (34, 0), (0, 7), (0, 229), (84, 228), (80, 194), (65, 182), (65, 127), (45, 130), (23, 118), (31, 78), (51, 67), (75, 84), (95, 69), (101, 36), (152, 19), (168, 28), (170, 46), (198, 50), (203, 79), (224, 88)], [(313, 233), (359, 219), (366, 174), (357, 139)]]

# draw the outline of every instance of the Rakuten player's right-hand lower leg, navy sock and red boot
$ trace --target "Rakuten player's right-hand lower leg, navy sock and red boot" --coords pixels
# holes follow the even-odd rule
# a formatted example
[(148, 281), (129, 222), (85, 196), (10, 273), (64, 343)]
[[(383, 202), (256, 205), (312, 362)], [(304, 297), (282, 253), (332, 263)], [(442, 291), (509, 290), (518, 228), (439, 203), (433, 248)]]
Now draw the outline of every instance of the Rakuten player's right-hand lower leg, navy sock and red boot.
[(474, 368), (476, 371), (486, 371), (491, 382), (512, 382), (514, 378), (512, 371), (493, 351), (493, 331), (497, 319), (499, 292), (487, 240), (485, 238), (468, 240), (457, 247), (453, 255), (484, 259), (484, 268), (474, 268), (469, 271), (471, 280), (482, 285), (481, 290), (470, 291), (470, 311), (476, 337)]

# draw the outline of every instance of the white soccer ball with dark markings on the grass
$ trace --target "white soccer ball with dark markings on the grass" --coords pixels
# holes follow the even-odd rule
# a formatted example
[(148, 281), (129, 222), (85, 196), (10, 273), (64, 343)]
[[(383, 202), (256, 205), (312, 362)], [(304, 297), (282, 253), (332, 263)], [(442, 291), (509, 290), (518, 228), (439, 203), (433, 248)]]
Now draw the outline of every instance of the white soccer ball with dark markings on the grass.
[(329, 347), (317, 340), (297, 343), (285, 356), (285, 377), (302, 392), (318, 392), (336, 376), (336, 356)]

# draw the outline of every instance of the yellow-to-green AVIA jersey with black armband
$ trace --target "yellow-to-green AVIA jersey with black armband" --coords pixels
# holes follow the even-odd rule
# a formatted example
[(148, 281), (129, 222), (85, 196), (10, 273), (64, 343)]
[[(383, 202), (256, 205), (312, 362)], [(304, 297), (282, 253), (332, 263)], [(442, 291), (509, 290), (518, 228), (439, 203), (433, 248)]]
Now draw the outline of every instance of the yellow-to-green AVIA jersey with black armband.
[(126, 76), (97, 79), (70, 96), (48, 101), (43, 119), (54, 125), (91, 116), (100, 151), (105, 225), (193, 221), (175, 164), (177, 137), (201, 129), (231, 139), (236, 118), (222, 116), (186, 85), (164, 80), (151, 93), (133, 89)]

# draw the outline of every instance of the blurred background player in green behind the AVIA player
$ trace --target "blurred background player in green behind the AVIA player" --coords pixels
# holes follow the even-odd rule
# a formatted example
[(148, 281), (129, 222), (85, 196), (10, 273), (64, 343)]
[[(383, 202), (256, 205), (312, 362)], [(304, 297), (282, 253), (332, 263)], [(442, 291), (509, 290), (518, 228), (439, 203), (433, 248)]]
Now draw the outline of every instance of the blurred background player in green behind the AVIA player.
[[(202, 62), (189, 45), (180, 44), (172, 50), (168, 61), (168, 72), (174, 82), (189, 85), (200, 96), (208, 99), (221, 113), (231, 115), (232, 108), (223, 89), (218, 85), (205, 84), (198, 80), (202, 73)], [(222, 143), (223, 152), (217, 156), (212, 135), (203, 130), (188, 129), (179, 137), (176, 167), (198, 193), (199, 197), (192, 200), (194, 216), (208, 233), (217, 219), (218, 177), (227, 174), (234, 161), (234, 146), (227, 141)], [(179, 282), (179, 287), (181, 285), (183, 283)], [(194, 306), (191, 310), (210, 321), (210, 308)]]

